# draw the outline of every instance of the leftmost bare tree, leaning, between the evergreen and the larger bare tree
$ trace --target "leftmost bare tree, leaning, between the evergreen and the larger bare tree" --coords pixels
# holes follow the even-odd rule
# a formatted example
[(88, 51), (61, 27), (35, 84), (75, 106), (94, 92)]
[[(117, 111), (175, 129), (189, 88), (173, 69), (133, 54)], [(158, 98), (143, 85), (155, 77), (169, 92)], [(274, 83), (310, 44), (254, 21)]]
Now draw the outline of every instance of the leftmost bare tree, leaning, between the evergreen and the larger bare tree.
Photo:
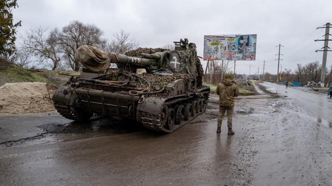
[(23, 37), (22, 49), (39, 58), (40, 63), (44, 61), (52, 62), (52, 70), (59, 64), (60, 56), (57, 49), (56, 40), (50, 38), (46, 32), (48, 28), (32, 28)]

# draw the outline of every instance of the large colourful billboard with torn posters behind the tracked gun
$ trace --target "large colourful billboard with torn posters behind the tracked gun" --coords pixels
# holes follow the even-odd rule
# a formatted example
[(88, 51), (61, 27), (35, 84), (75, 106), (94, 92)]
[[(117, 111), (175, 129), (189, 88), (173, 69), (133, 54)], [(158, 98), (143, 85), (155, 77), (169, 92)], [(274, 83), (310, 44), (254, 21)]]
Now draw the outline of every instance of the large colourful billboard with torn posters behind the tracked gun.
[(204, 60), (255, 60), (256, 34), (204, 36)]

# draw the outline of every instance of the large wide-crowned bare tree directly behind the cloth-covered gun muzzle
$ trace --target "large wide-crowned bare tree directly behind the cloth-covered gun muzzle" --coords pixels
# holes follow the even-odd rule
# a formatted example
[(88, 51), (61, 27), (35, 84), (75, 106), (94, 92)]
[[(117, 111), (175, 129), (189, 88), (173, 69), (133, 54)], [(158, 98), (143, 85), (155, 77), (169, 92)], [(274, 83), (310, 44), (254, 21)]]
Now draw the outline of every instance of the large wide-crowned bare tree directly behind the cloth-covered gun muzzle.
[(102, 35), (102, 30), (95, 25), (72, 21), (62, 28), (62, 32), (54, 29), (50, 36), (57, 41), (57, 46), (63, 54), (66, 64), (78, 71), (81, 64), (75, 59), (76, 49), (81, 45), (105, 46), (106, 40), (101, 38)]

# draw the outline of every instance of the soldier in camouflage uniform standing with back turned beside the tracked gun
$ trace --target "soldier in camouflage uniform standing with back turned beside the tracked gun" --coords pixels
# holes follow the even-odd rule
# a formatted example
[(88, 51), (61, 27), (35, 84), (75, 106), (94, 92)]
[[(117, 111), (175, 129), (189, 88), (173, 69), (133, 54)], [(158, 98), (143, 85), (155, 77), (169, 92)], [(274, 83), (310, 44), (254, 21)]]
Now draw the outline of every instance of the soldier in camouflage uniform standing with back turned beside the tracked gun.
[(228, 135), (233, 135), (234, 131), (232, 130), (232, 117), (235, 102), (234, 97), (239, 96), (239, 88), (235, 81), (232, 80), (231, 74), (225, 75), (225, 79), (218, 84), (216, 93), (219, 95), (219, 117), (217, 133), (221, 132), (221, 123), (223, 121), (223, 116), (227, 111)]

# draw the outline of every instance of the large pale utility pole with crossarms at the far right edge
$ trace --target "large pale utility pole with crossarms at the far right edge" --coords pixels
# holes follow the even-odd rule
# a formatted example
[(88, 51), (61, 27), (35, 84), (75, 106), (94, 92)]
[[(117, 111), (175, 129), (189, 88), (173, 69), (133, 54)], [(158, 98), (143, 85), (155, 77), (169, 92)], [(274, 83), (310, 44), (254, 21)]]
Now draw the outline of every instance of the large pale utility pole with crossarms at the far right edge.
[[(328, 41), (332, 41), (332, 40), (328, 39), (328, 36), (330, 36), (330, 34), (329, 34), (330, 23), (328, 22), (325, 25), (323, 25), (321, 27), (318, 27), (318, 28), (325, 28), (325, 35), (324, 35), (325, 38), (323, 40), (318, 40), (318, 39), (315, 40), (315, 41), (324, 41), (324, 46), (321, 49), (316, 50), (316, 52), (323, 51), (322, 73), (321, 73), (321, 76), (320, 76), (320, 83), (321, 83), (321, 86), (324, 87), (324, 85), (325, 85), (327, 51), (332, 51), (332, 50), (329, 50), (330, 48), (328, 47)], [(318, 29), (318, 28), (316, 28), (316, 29)]]

